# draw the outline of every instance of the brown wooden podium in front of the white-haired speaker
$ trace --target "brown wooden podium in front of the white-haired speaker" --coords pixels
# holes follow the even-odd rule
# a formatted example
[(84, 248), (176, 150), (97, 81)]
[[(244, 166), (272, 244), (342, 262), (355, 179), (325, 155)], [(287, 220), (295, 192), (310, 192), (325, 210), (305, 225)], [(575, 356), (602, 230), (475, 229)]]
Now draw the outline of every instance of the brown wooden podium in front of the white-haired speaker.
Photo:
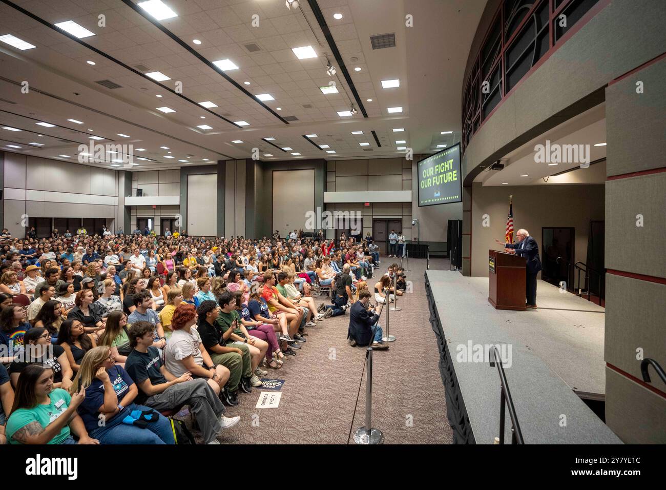
[(488, 251), (488, 301), (496, 309), (525, 311), (524, 257)]

